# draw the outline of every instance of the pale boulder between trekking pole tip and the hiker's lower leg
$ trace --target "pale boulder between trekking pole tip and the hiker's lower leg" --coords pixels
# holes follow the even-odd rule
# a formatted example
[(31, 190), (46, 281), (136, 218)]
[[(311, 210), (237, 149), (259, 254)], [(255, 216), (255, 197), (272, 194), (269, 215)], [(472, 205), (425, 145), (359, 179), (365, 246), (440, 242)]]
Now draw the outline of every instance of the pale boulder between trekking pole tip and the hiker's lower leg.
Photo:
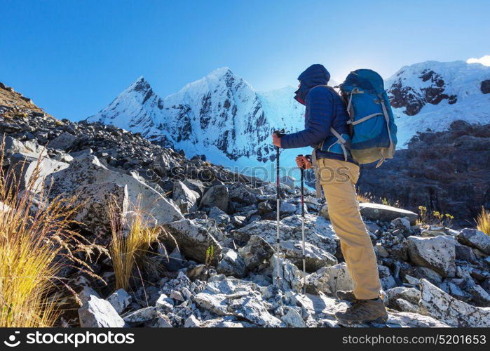
[(306, 291), (310, 293), (326, 293), (335, 296), (338, 290), (353, 290), (354, 282), (347, 270), (346, 263), (332, 267), (322, 267), (306, 277)]

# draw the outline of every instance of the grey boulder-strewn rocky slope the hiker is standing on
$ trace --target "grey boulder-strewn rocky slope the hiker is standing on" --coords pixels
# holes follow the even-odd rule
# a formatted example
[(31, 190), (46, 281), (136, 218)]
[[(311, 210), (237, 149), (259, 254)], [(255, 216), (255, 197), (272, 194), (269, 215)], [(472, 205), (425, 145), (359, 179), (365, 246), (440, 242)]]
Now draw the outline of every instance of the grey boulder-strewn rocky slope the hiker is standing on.
[[(39, 158), (46, 185), (55, 194), (79, 194), (84, 236), (108, 244), (109, 194), (124, 210), (143, 194), (152, 223), (175, 241), (164, 240), (148, 255), (166, 272), (142, 272), (128, 291), (114, 291), (110, 258), (89, 263), (102, 284), (63, 271), (78, 293), (69, 294), (64, 326), (286, 327), (340, 326), (334, 313), (346, 303), (337, 289), (353, 282), (329, 223), (325, 203), (306, 196), (306, 295), (298, 268), (301, 258), (299, 190), (283, 185), (280, 208), (280, 284), (275, 277), (275, 187), (231, 173), (149, 143), (137, 133), (100, 123), (58, 121), (4, 88), (0, 132), (6, 134), (6, 161), (28, 181)], [(154, 100), (156, 101), (156, 100)], [(4, 105), (5, 104), (5, 105)], [(17, 106), (16, 106), (17, 105)], [(46, 150), (42, 146), (46, 145)], [(41, 197), (42, 194), (37, 194)], [(414, 225), (416, 214), (362, 204), (379, 263), (387, 324), (372, 326), (490, 326), (490, 237), (477, 230)], [(206, 250), (214, 255), (205, 265)], [(135, 276), (140, 277), (138, 274)], [(76, 311), (77, 313), (73, 313)]]

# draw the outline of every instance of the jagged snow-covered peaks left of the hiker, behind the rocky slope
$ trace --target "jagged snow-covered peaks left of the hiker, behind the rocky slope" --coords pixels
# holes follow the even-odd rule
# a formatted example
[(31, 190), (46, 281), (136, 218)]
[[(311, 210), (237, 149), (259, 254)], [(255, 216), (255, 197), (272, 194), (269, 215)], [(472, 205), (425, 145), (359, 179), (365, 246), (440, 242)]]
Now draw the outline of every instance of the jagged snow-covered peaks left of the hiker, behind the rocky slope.
[(304, 125), (304, 107), (293, 93), (292, 87), (259, 93), (225, 67), (161, 99), (140, 77), (88, 121), (139, 132), (217, 164), (257, 166), (275, 157), (270, 143), (275, 129), (297, 131)]

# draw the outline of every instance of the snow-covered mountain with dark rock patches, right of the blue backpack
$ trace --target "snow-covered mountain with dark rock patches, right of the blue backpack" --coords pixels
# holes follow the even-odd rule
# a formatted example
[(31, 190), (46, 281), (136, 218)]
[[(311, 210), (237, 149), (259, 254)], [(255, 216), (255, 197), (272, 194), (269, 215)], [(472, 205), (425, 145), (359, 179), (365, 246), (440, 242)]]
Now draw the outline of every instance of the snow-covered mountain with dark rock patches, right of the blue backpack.
[(459, 119), (490, 123), (490, 67), (479, 63), (417, 63), (402, 67), (385, 87), (400, 147), (417, 132), (444, 131)]

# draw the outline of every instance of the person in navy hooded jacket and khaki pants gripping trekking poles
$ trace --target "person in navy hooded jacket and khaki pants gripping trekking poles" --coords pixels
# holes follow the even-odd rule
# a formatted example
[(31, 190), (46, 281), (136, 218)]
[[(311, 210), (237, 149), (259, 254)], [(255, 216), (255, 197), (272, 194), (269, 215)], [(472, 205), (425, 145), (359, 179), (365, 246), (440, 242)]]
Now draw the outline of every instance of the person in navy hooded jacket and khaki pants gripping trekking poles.
[[(297, 157), (300, 168), (311, 168), (316, 163), (317, 183), (320, 183), (332, 226), (340, 239), (343, 257), (354, 282), (353, 291), (337, 291), (341, 300), (353, 304), (335, 317), (344, 323), (360, 323), (381, 319), (388, 314), (380, 297), (376, 256), (366, 226), (359, 211), (355, 183), (359, 178), (359, 166), (351, 152), (338, 136), (348, 139), (349, 119), (346, 104), (341, 96), (327, 87), (330, 74), (322, 65), (308, 67), (298, 77), (299, 88), (294, 97), (306, 105), (305, 129), (297, 133), (277, 135), (273, 133), (273, 145), (283, 149), (329, 145), (328, 151), (315, 148), (312, 158)], [(334, 135), (331, 127), (339, 135)], [(320, 190), (319, 190), (320, 191)]]

